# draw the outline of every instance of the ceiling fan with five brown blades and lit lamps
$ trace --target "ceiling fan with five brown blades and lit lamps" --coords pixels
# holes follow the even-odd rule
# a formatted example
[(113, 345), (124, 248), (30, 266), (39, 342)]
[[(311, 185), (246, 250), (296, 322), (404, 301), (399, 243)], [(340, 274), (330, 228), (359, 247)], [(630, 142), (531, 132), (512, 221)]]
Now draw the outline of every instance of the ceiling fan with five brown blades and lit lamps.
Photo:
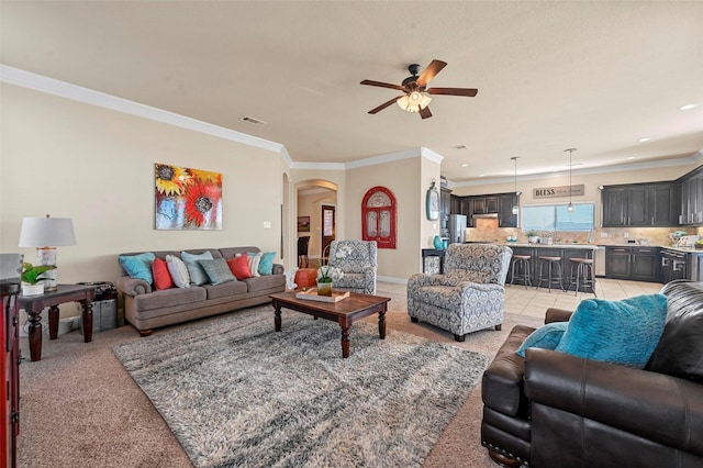
[(401, 85), (365, 79), (361, 81), (361, 85), (397, 89), (404, 92), (404, 94), (383, 102), (378, 108), (371, 109), (369, 113), (375, 114), (388, 108), (393, 102), (397, 102), (401, 109), (408, 112), (420, 112), (421, 118), (427, 119), (432, 116), (432, 112), (429, 112), (429, 108), (427, 107), (429, 101), (432, 101), (429, 94), (466, 96), (472, 98), (479, 92), (478, 89), (473, 88), (427, 88), (427, 83), (446, 66), (446, 62), (435, 59), (427, 65), (427, 68), (425, 68), (422, 75), (417, 75), (420, 73), (420, 65), (412, 64), (408, 67), (412, 76), (405, 78)]

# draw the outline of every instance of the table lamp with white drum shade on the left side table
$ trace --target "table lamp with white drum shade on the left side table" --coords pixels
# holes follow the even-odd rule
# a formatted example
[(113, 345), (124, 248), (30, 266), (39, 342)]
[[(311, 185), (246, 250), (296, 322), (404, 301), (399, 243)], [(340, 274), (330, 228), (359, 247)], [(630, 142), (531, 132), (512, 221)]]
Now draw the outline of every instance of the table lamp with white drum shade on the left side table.
[[(70, 218), (24, 218), (20, 230), (20, 247), (36, 247), (37, 265), (56, 266), (56, 247), (76, 245), (74, 223)], [(58, 269), (42, 274), (44, 290), (55, 291)]]

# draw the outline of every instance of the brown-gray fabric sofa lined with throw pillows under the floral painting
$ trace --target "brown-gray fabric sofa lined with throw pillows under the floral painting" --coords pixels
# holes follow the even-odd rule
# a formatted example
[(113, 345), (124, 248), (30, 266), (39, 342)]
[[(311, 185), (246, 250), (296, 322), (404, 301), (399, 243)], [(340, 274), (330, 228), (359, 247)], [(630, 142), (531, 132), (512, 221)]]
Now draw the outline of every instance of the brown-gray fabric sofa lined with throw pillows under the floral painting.
[[(258, 247), (227, 247), (188, 249), (194, 255), (210, 250), (213, 258), (233, 258), (236, 254), (260, 252)], [(152, 250), (157, 258), (167, 255), (180, 257), (177, 250)], [(142, 252), (121, 254), (125, 256)], [(142, 279), (135, 279), (122, 270), (116, 287), (123, 296), (124, 317), (142, 336), (154, 328), (202, 319), (224, 312), (270, 302), (269, 294), (286, 290), (283, 266), (274, 264), (272, 275), (230, 281), (217, 286), (202, 285), (190, 288), (170, 288), (160, 291)]]

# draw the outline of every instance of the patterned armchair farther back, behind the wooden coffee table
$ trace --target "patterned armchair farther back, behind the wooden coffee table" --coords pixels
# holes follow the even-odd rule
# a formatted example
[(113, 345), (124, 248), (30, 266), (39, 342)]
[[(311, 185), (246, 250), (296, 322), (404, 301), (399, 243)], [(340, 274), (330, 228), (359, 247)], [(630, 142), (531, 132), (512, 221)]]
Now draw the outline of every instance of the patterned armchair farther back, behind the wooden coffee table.
[(334, 281), (334, 288), (376, 294), (376, 257), (375, 241), (332, 241), (328, 265), (344, 271), (344, 277)]

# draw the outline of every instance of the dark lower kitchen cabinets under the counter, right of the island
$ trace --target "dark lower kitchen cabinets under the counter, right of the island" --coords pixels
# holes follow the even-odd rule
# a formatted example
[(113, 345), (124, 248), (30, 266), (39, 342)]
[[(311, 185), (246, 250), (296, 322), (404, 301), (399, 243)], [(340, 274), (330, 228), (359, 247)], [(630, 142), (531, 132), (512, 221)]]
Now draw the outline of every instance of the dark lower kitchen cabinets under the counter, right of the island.
[(605, 277), (636, 281), (659, 281), (659, 248), (606, 246)]

